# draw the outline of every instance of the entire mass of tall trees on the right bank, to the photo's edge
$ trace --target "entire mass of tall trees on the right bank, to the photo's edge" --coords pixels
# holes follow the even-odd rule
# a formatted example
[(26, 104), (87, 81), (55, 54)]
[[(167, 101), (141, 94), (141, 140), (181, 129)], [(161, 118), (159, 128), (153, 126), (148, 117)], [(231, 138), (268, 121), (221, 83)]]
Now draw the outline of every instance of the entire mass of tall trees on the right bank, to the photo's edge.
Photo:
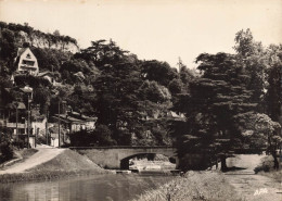
[(226, 158), (234, 151), (259, 153), (267, 149), (278, 167), (281, 46), (265, 49), (253, 41), (248, 29), (239, 32), (235, 41), (238, 54), (197, 56), (202, 76), (190, 81), (189, 93), (180, 95), (174, 104), (188, 118), (171, 126), (179, 155), (219, 158), (225, 171)]

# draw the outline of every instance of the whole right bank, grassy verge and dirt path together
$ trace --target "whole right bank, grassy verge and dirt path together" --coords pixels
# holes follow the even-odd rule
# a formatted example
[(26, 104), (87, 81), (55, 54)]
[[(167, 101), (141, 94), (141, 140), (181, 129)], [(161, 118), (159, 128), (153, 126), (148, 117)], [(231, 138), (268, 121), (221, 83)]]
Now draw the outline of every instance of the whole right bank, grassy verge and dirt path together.
[[(188, 172), (156, 190), (149, 190), (134, 201), (280, 201), (281, 169), (273, 171), (269, 155), (236, 154), (227, 160), (230, 169)], [(268, 172), (262, 172), (267, 169)]]

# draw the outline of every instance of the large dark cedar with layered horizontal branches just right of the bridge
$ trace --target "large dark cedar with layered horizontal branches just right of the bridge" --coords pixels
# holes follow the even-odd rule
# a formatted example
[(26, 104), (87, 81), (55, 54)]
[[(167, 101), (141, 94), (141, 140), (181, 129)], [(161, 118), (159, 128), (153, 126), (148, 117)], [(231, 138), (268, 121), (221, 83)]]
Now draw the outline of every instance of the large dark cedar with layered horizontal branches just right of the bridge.
[[(256, 104), (246, 89), (248, 76), (236, 62), (236, 56), (227, 53), (203, 53), (196, 58), (202, 77), (190, 83), (189, 96), (180, 104), (187, 104), (187, 130), (178, 140), (179, 153), (218, 155), (222, 171), (230, 151), (242, 148), (243, 136), (236, 129), (234, 117), (249, 112)], [(181, 153), (182, 152), (182, 153)]]

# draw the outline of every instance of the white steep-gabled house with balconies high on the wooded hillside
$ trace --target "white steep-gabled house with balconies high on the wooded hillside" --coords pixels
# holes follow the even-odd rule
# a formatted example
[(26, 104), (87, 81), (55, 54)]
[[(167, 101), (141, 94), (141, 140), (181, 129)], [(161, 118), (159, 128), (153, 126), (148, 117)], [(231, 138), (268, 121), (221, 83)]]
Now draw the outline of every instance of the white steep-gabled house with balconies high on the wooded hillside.
[(37, 59), (29, 48), (18, 48), (15, 62), (18, 73), (37, 75), (39, 72)]

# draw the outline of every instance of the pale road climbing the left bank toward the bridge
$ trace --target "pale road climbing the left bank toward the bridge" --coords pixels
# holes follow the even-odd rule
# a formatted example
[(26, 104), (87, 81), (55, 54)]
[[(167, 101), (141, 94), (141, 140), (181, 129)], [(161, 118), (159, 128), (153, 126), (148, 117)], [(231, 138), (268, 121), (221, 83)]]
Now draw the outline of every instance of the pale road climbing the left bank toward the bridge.
[(55, 148), (37, 148), (38, 152), (28, 158), (27, 160), (15, 163), (11, 167), (5, 171), (0, 171), (0, 174), (13, 174), (13, 173), (23, 173), (29, 168), (33, 168), (39, 164), (42, 164), (47, 161), (52, 160), (60, 153), (64, 151), (64, 149), (55, 149)]

